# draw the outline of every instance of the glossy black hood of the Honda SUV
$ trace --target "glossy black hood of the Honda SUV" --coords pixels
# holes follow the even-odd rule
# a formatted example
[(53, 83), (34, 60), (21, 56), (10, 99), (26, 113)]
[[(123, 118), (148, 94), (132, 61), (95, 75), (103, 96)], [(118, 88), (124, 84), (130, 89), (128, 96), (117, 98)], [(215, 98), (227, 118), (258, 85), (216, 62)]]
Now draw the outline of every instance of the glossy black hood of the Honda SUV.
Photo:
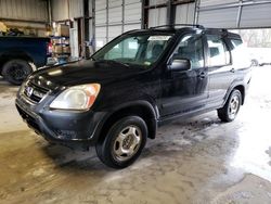
[(82, 60), (51, 68), (43, 68), (30, 76), (31, 82), (55, 89), (90, 82), (107, 84), (143, 72), (137, 65), (113, 61)]

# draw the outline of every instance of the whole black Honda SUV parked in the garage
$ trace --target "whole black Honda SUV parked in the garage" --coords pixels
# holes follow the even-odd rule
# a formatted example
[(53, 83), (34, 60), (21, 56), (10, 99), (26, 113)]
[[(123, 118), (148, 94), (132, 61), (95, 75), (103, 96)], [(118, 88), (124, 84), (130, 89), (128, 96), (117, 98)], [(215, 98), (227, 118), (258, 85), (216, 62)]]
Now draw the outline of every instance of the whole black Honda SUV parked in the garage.
[(49, 142), (95, 145), (104, 164), (124, 168), (165, 122), (212, 110), (233, 120), (249, 81), (238, 35), (162, 26), (125, 33), (90, 59), (33, 73), (16, 107)]

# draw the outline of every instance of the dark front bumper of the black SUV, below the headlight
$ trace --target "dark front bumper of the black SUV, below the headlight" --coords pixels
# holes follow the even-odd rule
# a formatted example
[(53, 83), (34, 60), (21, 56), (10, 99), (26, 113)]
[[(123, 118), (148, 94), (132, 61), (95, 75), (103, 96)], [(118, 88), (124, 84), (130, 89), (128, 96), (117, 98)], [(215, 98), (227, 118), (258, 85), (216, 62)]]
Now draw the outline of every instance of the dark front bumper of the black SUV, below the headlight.
[(94, 145), (100, 136), (103, 112), (73, 112), (50, 110), (44, 104), (31, 105), (20, 94), (16, 109), (36, 133), (52, 143)]

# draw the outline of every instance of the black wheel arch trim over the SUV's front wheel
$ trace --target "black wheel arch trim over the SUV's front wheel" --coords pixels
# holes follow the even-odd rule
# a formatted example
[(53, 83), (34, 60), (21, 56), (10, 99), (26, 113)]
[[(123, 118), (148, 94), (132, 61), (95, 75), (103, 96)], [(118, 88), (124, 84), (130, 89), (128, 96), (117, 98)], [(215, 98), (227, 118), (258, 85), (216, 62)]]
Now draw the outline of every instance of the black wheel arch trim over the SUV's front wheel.
[(155, 139), (156, 129), (157, 129), (157, 111), (154, 106), (147, 101), (136, 101), (129, 102), (111, 111), (111, 114), (104, 120), (99, 141), (103, 140), (106, 137), (108, 128), (118, 119), (128, 116), (128, 115), (138, 115), (144, 119), (147, 126), (149, 135), (151, 139)]

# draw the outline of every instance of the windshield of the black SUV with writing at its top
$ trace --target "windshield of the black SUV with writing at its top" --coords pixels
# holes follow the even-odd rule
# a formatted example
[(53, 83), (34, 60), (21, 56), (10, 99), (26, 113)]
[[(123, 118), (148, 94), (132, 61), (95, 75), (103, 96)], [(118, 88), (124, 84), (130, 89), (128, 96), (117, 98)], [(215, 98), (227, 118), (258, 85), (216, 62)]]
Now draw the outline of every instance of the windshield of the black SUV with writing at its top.
[(92, 59), (94, 61), (115, 61), (150, 67), (166, 49), (172, 35), (132, 34), (113, 40)]

